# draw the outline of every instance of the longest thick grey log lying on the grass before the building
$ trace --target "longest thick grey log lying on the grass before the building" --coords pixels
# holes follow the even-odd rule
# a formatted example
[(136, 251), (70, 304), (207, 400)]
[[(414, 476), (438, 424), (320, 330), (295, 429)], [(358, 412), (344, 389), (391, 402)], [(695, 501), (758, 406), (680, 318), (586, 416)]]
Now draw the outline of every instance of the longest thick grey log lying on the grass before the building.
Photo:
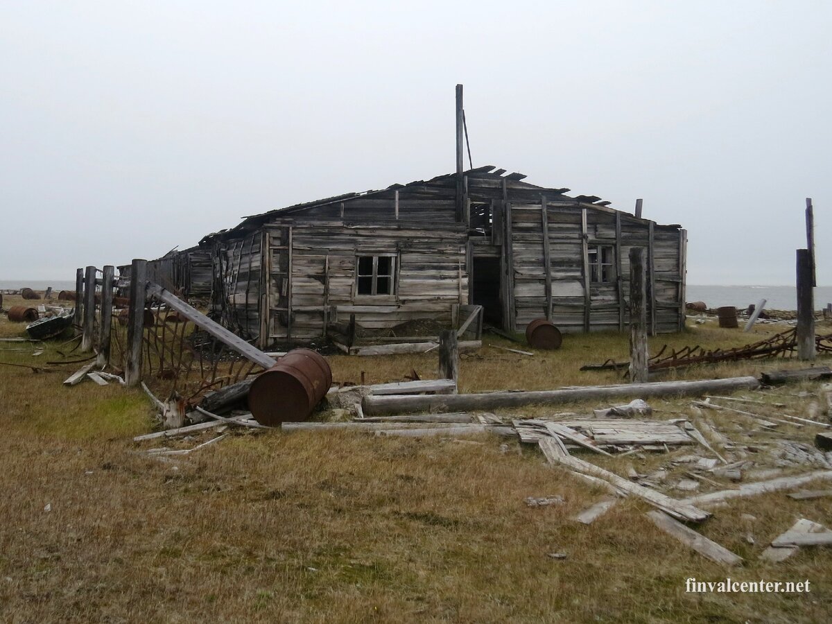
[[(439, 409), (458, 411), (514, 408), (522, 405), (557, 405), (572, 401), (608, 399), (646, 399), (666, 396), (696, 396), (708, 392), (732, 392), (739, 389), (759, 388), (754, 377), (728, 379), (703, 379), (697, 381), (663, 381), (646, 384), (618, 384), (587, 386), (559, 390), (533, 392), (493, 392), (478, 394), (448, 394), (433, 396), (367, 396), (364, 397), (366, 414), (406, 414)], [(441, 406), (441, 407), (440, 407)]]

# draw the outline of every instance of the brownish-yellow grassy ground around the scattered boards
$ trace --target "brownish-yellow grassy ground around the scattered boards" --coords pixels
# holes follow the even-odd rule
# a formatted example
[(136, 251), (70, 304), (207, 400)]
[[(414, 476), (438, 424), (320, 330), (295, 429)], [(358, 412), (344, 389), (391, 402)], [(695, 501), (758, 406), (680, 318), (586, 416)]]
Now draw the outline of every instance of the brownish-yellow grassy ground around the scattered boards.
[[(7, 297), (5, 305), (12, 303)], [(771, 328), (749, 339), (736, 330), (697, 326), (652, 345), (745, 344), (773, 333)], [(20, 324), (0, 322), (2, 336), (21, 332)], [(512, 346), (503, 339), (486, 342)], [(4, 349), (10, 345), (24, 350)], [(461, 386), (473, 391), (613, 383), (616, 374), (577, 369), (608, 357), (624, 359), (626, 349), (626, 336), (617, 334), (567, 336), (561, 350), (534, 358), (486, 347), (463, 359)], [(33, 356), (30, 347), (0, 344), (0, 361), (47, 359), (60, 359), (52, 346)], [(428, 379), (436, 365), (434, 354), (330, 361), (336, 380), (358, 381), (364, 370), (367, 383), (402, 379), (411, 369)], [(703, 367), (685, 376), (757, 374), (780, 365)], [(829, 619), (828, 550), (804, 548), (779, 564), (758, 559), (767, 542), (797, 518), (832, 527), (829, 498), (800, 502), (772, 493), (716, 509), (697, 528), (744, 557), (742, 567), (728, 570), (659, 532), (635, 500), (589, 527), (574, 522), (603, 493), (548, 468), (536, 449), (503, 438), (234, 433), (188, 457), (161, 462), (143, 453), (151, 443), (131, 442), (153, 426), (141, 392), (92, 383), (65, 388), (63, 377), (0, 366), (2, 622)], [(801, 390), (813, 394), (793, 395)], [(816, 390), (817, 384), (790, 386), (769, 400), (789, 403), (790, 414), (816, 415)], [(661, 410), (658, 418), (701, 418), (686, 401), (651, 403)], [(586, 413), (592, 407), (599, 405), (512, 414)], [(776, 414), (770, 406), (759, 411)], [(810, 440), (815, 433), (810, 427), (754, 433), (741, 417), (707, 418), (737, 443), (752, 434), (759, 448), (770, 439)], [(658, 468), (668, 457), (589, 459), (623, 474), (628, 466), (639, 472)], [(523, 502), (553, 494), (565, 502), (547, 508)], [(550, 552), (567, 558), (553, 559)], [(726, 576), (808, 579), (811, 592), (685, 592), (687, 577)]]

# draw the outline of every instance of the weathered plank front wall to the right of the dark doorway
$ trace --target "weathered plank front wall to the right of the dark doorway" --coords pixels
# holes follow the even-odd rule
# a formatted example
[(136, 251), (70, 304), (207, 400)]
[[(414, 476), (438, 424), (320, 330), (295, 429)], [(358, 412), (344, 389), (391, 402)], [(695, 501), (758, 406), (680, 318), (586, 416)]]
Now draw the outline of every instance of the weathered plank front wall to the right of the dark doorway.
[[(626, 300), (629, 292), (629, 253), (633, 246), (647, 249), (650, 225), (629, 215), (595, 210), (592, 207), (547, 203), (548, 255), (551, 261), (551, 319), (567, 333), (613, 329), (629, 323)], [(618, 221), (618, 222), (617, 222)], [(515, 329), (522, 331), (533, 319), (547, 317), (547, 271), (543, 258), (541, 204), (513, 204), (511, 225), (514, 263)], [(655, 308), (656, 331), (679, 329), (683, 292), (681, 289), (680, 230), (654, 225), (654, 299), (648, 314)], [(592, 282), (585, 261), (585, 245), (610, 245), (619, 280)], [(622, 301), (623, 295), (623, 301)], [(589, 307), (587, 310), (587, 301)]]

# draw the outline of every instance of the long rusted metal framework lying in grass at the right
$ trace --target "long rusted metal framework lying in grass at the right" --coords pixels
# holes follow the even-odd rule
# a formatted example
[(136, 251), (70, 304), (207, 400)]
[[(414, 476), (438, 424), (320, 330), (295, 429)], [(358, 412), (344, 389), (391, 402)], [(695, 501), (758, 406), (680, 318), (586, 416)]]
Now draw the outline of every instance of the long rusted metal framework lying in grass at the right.
[[(670, 349), (666, 344), (648, 361), (651, 371), (661, 369), (676, 369), (693, 364), (720, 364), (721, 362), (736, 362), (742, 359), (788, 358), (796, 349), (796, 329), (788, 329), (775, 334), (768, 339), (753, 344), (745, 344), (733, 349), (702, 349), (701, 346)], [(832, 353), (832, 334), (815, 336), (815, 344), (819, 351)], [(668, 350), (670, 351), (668, 353)], [(626, 369), (629, 362), (616, 362), (607, 359), (602, 364), (586, 364), (581, 370), (618, 370)]]

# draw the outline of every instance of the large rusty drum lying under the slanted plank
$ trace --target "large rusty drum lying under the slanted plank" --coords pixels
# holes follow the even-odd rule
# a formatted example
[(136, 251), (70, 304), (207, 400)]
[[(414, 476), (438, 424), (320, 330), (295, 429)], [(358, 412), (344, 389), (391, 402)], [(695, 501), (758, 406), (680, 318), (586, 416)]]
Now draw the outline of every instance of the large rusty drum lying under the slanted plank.
[(260, 424), (306, 420), (332, 385), (332, 370), (311, 349), (292, 349), (249, 389), (249, 409)]

